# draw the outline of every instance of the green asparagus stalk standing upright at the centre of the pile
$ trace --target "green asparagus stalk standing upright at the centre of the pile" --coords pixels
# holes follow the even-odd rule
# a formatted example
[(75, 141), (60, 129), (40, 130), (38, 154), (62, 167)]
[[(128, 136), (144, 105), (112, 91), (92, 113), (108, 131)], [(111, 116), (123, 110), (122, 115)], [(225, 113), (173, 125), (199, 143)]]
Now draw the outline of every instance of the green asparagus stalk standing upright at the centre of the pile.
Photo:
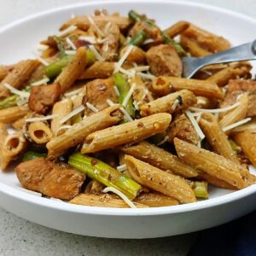
[[(126, 82), (125, 77), (121, 74), (121, 73), (115, 73), (113, 74), (113, 82), (116, 85), (116, 87), (119, 90), (119, 104), (123, 104), (125, 96), (127, 96), (129, 90), (130, 90), (130, 86), (129, 84)], [(125, 106), (125, 110), (127, 113), (129, 113), (129, 115), (131, 116), (131, 118), (135, 117), (135, 108), (133, 106), (132, 103), (132, 96), (129, 99), (129, 101), (127, 102), (126, 106)], [(125, 122), (127, 122), (127, 119), (124, 119)]]

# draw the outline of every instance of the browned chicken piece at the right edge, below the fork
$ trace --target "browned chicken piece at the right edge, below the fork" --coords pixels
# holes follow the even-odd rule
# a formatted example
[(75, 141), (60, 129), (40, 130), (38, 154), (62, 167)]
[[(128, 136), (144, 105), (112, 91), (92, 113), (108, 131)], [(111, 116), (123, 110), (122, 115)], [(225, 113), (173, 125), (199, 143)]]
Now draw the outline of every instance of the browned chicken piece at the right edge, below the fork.
[(220, 108), (231, 106), (237, 102), (237, 97), (242, 93), (248, 93), (247, 116), (256, 116), (256, 81), (253, 80), (230, 80), (229, 88)]

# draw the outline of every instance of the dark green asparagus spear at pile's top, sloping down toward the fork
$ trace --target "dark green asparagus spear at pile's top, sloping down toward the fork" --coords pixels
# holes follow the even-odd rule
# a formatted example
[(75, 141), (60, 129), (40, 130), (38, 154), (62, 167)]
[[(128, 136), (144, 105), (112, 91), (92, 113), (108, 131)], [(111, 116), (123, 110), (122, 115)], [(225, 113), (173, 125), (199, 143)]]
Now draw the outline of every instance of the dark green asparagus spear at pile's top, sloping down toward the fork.
[[(151, 21), (151, 20), (148, 20), (148, 18), (147, 18), (145, 15), (139, 15), (139, 14), (137, 14), (137, 12), (134, 11), (134, 10), (131, 10), (131, 11), (129, 12), (129, 18), (130, 18), (130, 20), (132, 20), (133, 22), (144, 21), (145, 24), (147, 24), (148, 26), (155, 26), (155, 27), (157, 27), (157, 26), (154, 24), (154, 22)], [(164, 39), (164, 43), (165, 43), (165, 44), (170, 44), (170, 45), (172, 45), (172, 46), (176, 49), (178, 55), (180, 55), (180, 56), (186, 56), (186, 55), (188, 55), (188, 54), (186, 53), (186, 51), (183, 49), (183, 47), (182, 47), (180, 44), (176, 43), (174, 40), (172, 40), (172, 38), (169, 38), (169, 37), (166, 35), (165, 32), (161, 32), (161, 35), (162, 35), (162, 38)]]

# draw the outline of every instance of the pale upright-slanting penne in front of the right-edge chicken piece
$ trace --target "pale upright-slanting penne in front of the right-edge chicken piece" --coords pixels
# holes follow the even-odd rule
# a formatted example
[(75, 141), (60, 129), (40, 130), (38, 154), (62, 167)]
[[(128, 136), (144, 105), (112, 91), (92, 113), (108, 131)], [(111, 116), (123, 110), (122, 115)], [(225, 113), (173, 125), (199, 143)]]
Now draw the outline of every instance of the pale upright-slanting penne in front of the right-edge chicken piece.
[[(241, 102), (241, 104), (232, 110), (230, 110), (228, 113), (224, 115), (224, 117), (219, 121), (219, 125), (224, 128), (228, 125), (232, 125), (236, 123), (237, 121), (241, 119), (245, 119), (247, 115), (247, 106), (248, 106), (248, 96), (247, 92), (243, 93), (238, 102)], [(226, 131), (226, 134), (229, 134), (230, 131)]]

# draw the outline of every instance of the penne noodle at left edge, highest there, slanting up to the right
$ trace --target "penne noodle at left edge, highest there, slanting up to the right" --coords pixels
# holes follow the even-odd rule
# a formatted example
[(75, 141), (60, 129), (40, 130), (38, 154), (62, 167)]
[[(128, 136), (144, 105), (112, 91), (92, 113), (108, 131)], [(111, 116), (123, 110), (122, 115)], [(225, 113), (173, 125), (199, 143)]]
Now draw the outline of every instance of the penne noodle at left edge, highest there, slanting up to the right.
[(40, 62), (35, 60), (26, 60), (17, 63), (15, 68), (0, 83), (0, 98), (9, 96), (9, 90), (4, 87), (4, 84), (11, 84), (13, 87), (20, 89), (39, 65)]

